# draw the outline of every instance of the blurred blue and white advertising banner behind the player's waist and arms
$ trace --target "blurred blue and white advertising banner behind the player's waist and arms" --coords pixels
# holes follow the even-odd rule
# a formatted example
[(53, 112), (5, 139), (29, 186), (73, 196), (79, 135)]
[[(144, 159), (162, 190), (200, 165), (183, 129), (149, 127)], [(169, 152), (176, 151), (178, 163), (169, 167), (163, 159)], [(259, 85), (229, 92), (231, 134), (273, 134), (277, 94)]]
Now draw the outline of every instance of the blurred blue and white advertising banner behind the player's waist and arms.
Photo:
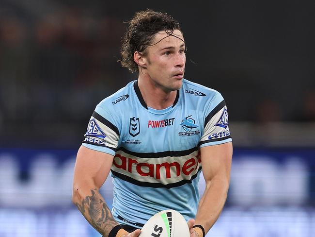
[[(0, 149), (0, 237), (100, 236), (71, 201), (76, 153)], [(109, 206), (111, 181), (100, 189)], [(234, 149), (228, 200), (207, 237), (312, 237), (314, 200), (315, 150)]]

